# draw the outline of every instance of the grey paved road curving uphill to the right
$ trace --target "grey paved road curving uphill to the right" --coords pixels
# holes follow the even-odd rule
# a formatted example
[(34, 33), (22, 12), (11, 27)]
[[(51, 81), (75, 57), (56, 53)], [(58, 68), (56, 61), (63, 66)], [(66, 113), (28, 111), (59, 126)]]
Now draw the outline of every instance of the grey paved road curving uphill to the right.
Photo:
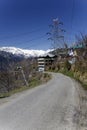
[(6, 99), (0, 106), (0, 130), (77, 130), (74, 81), (52, 75), (48, 83)]

